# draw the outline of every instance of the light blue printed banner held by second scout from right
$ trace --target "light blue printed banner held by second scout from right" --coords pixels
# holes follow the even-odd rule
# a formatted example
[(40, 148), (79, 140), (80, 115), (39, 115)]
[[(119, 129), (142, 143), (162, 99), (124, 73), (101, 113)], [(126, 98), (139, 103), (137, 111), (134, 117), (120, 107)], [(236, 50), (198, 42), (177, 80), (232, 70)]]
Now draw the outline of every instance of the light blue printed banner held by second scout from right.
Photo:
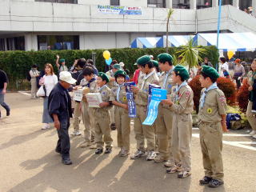
[(150, 101), (149, 110), (147, 117), (142, 125), (152, 126), (155, 119), (158, 117), (158, 105), (159, 103), (167, 98), (167, 90), (162, 89), (152, 89), (152, 98)]

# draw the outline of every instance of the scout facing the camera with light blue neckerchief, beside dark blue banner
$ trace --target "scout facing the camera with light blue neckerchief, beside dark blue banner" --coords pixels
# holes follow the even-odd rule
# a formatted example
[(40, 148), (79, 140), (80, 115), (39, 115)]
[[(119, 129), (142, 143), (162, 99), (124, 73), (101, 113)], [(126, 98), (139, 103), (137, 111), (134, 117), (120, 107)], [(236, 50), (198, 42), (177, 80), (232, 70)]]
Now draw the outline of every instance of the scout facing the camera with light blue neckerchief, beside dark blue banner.
[(126, 72), (118, 70), (114, 73), (117, 86), (111, 89), (110, 101), (114, 104), (114, 122), (118, 130), (118, 147), (121, 148), (119, 156), (125, 157), (130, 151), (130, 118), (126, 99)]

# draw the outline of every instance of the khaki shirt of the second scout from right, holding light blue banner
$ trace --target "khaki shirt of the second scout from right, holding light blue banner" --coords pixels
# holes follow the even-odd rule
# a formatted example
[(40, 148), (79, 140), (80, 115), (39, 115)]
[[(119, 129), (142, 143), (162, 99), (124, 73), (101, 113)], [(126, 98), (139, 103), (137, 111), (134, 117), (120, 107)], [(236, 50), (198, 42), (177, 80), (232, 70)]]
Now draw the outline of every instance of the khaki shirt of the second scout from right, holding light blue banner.
[(170, 98), (174, 104), (170, 106), (170, 110), (176, 114), (191, 114), (194, 111), (193, 90), (189, 85), (182, 86), (178, 92), (176, 89), (178, 86), (173, 86)]

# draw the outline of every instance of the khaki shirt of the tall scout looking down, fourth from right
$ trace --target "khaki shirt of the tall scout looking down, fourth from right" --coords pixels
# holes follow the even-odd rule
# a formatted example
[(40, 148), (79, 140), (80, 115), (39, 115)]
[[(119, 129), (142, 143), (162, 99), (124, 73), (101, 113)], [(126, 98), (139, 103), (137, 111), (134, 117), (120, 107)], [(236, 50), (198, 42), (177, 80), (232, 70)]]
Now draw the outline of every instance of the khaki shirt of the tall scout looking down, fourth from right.
[(138, 78), (138, 88), (139, 91), (135, 94), (135, 103), (138, 106), (147, 106), (147, 100), (149, 95), (149, 86), (150, 84), (159, 85), (158, 74), (154, 70), (154, 73), (150, 75), (149, 78), (146, 78), (146, 74), (140, 75)]

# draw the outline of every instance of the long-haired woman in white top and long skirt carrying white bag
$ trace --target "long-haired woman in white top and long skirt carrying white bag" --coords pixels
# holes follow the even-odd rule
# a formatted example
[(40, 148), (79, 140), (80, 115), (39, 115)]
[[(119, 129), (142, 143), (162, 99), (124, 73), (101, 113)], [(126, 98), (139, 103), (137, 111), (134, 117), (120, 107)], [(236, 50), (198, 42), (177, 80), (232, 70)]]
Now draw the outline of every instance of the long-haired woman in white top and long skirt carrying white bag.
[(49, 123), (54, 122), (52, 118), (50, 118), (48, 111), (48, 97), (50, 91), (53, 90), (54, 86), (58, 83), (58, 78), (54, 74), (54, 67), (50, 63), (46, 63), (45, 72), (46, 74), (40, 79), (40, 85), (44, 85), (46, 88), (46, 97), (43, 98), (42, 130), (50, 129)]

